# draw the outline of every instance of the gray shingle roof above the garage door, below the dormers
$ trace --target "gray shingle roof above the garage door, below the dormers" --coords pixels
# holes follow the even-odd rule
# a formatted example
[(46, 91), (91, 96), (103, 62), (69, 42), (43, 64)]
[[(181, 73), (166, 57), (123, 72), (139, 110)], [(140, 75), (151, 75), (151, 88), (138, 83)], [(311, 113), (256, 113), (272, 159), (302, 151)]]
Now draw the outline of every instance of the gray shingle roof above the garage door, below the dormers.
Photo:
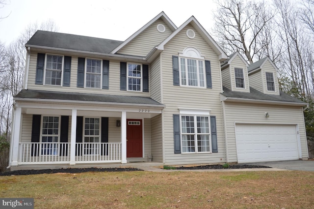
[(250, 87), (249, 93), (232, 91), (226, 87), (223, 87), (223, 91), (224, 92), (222, 93), (222, 95), (226, 97), (232, 97), (232, 98), (256, 99), (256, 100), (278, 101), (278, 102), (294, 102), (294, 103), (304, 103), (304, 105), (307, 104), (282, 91), (280, 91), (280, 95), (264, 94), (261, 91), (258, 91), (252, 87)]

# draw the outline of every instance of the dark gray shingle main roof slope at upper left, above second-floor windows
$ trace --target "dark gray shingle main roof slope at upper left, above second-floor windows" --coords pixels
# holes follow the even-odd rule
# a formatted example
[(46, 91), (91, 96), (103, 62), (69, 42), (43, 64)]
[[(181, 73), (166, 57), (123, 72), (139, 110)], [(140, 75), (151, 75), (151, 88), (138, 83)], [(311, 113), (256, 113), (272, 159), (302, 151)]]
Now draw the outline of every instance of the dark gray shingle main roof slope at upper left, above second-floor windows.
[(123, 41), (104, 38), (37, 30), (27, 41), (26, 47), (30, 45), (44, 46), (108, 54), (122, 42)]

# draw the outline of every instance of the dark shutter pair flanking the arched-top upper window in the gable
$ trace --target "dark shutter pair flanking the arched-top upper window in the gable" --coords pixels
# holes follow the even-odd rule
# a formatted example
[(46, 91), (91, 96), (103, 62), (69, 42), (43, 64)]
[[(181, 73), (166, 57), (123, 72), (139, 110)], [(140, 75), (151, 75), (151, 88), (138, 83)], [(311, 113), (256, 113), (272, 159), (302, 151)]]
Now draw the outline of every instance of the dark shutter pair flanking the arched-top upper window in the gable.
[[(179, 73), (179, 57), (178, 56), (172, 56), (172, 69), (173, 69), (173, 85), (174, 86), (180, 86), (180, 73)], [(207, 89), (212, 88), (211, 83), (211, 67), (210, 67), (210, 61), (205, 60), (205, 71), (206, 71), (206, 83), (207, 83)]]

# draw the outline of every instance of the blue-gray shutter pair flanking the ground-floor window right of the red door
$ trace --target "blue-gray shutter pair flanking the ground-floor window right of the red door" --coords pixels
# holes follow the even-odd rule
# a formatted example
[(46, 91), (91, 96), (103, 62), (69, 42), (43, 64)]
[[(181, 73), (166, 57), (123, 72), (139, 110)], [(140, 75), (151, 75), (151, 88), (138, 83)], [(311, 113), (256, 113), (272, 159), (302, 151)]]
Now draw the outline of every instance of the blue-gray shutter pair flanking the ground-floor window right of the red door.
[[(173, 115), (173, 135), (174, 135), (174, 152), (175, 154), (181, 153), (181, 139), (180, 139), (180, 115)], [(210, 131), (211, 131), (211, 151), (218, 152), (217, 146), (217, 129), (216, 129), (216, 116), (210, 116)]]

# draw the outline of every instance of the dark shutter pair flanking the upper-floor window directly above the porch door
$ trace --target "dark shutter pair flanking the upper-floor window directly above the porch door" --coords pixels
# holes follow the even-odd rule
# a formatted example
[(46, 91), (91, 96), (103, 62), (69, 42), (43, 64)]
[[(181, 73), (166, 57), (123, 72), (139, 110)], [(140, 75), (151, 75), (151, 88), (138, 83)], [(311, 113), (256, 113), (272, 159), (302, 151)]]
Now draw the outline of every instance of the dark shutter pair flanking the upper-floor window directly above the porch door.
[[(148, 65), (143, 64), (143, 92), (149, 92)], [(127, 90), (127, 62), (120, 62), (120, 90)]]

